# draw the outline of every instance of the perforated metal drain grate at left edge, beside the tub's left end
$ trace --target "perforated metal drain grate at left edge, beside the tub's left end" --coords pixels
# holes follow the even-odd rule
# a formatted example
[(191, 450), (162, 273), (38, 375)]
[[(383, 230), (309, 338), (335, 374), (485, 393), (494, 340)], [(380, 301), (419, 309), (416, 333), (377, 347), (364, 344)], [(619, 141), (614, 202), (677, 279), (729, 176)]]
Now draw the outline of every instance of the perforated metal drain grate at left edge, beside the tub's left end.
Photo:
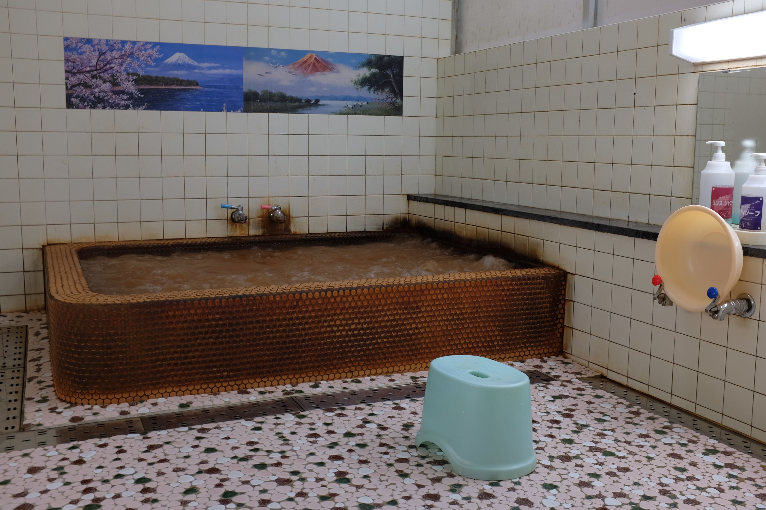
[(21, 430), (27, 326), (0, 327), (0, 434)]

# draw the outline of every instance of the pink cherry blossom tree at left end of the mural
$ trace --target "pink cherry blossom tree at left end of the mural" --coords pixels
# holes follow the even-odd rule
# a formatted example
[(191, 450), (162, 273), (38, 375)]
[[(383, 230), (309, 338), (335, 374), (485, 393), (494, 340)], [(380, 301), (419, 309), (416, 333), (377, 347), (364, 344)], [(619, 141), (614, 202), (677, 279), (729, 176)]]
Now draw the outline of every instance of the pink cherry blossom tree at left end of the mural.
[[(136, 70), (153, 65), (159, 48), (151, 43), (64, 38), (64, 77), (70, 106), (87, 109), (142, 109)], [(119, 87), (115, 93), (114, 88)]]

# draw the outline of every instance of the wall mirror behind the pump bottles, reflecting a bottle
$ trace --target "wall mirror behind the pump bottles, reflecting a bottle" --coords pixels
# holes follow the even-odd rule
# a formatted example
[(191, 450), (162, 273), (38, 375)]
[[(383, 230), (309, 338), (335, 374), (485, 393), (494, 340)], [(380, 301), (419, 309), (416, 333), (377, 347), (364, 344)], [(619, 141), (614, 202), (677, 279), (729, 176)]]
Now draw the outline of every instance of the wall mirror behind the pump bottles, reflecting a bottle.
[(713, 149), (706, 141), (723, 140), (726, 161), (735, 171), (732, 223), (739, 220), (741, 185), (753, 173), (749, 154), (766, 152), (766, 68), (716, 71), (699, 75), (692, 203), (699, 203), (699, 173)]

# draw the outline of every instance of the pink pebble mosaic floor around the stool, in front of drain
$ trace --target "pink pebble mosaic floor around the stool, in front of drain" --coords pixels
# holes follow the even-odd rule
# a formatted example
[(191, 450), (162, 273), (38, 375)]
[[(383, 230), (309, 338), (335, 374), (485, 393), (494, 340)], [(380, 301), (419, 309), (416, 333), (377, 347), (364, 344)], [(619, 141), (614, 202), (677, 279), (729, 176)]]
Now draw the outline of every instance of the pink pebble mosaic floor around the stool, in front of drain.
[(514, 365), (561, 378), (532, 387), (538, 466), (521, 479), (465, 479), (415, 448), (411, 400), (0, 453), (0, 508), (766, 508), (754, 457), (584, 385), (574, 362)]

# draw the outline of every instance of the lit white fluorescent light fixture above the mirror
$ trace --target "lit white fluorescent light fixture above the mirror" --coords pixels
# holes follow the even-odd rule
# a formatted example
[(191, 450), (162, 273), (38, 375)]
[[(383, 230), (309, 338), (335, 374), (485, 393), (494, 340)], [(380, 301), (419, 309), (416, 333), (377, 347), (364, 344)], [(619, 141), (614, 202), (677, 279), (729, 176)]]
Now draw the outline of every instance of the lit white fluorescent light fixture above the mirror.
[(670, 54), (691, 63), (766, 56), (766, 11), (705, 21), (670, 31)]

